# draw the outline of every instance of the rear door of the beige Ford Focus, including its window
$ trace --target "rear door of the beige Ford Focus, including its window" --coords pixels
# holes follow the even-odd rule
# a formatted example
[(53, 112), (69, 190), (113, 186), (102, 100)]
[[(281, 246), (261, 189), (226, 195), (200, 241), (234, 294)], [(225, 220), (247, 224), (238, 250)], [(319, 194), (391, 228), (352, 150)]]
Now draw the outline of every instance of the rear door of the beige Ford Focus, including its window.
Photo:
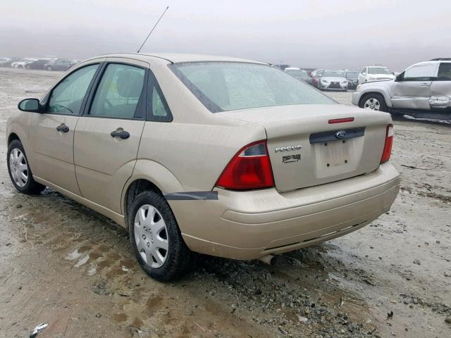
[(144, 127), (148, 68), (140, 61), (108, 58), (75, 129), (82, 196), (117, 213)]

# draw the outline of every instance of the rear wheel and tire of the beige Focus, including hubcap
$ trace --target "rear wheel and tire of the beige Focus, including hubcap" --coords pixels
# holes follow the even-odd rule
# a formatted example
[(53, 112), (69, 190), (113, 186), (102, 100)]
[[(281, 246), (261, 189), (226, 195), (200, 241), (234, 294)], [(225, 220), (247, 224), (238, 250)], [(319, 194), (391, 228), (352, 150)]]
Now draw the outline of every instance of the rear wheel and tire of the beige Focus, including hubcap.
[(194, 264), (194, 253), (183, 241), (171, 207), (161, 194), (146, 191), (135, 197), (128, 210), (128, 228), (136, 259), (154, 280), (177, 280)]

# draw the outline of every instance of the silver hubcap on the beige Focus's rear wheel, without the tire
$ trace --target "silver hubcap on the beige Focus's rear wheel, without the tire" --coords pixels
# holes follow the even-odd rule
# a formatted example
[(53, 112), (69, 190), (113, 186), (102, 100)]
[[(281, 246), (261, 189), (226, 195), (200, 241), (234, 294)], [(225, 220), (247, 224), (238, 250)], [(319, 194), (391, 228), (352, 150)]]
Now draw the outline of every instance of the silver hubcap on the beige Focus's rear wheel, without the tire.
[(135, 243), (144, 262), (152, 268), (160, 268), (168, 258), (168, 230), (154, 206), (146, 204), (137, 211)]

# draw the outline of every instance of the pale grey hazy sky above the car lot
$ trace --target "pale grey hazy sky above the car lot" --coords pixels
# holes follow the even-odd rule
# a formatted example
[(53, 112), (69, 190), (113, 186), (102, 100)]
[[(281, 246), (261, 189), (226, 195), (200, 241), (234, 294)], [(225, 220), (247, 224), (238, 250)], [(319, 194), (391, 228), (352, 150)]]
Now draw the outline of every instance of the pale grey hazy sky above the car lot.
[(402, 70), (451, 57), (451, 0), (0, 0), (0, 56), (135, 52)]

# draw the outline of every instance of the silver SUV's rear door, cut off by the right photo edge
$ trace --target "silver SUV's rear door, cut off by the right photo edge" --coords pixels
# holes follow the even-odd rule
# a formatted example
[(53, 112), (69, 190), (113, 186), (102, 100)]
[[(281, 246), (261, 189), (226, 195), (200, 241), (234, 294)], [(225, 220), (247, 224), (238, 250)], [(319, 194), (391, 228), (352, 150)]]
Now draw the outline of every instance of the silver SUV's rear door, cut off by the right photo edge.
[(431, 108), (445, 109), (451, 107), (451, 62), (442, 62), (438, 75), (431, 84)]

